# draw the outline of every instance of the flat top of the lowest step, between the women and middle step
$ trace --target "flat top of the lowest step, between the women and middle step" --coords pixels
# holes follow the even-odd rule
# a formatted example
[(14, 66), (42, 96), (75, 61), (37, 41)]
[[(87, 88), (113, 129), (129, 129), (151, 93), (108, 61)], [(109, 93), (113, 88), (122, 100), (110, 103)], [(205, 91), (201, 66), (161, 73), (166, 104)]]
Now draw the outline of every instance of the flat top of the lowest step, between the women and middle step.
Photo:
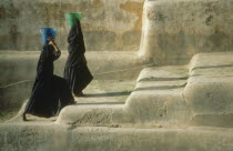
[(84, 89), (84, 97), (75, 98), (75, 101), (78, 104), (123, 104), (134, 87), (134, 80), (93, 80)]

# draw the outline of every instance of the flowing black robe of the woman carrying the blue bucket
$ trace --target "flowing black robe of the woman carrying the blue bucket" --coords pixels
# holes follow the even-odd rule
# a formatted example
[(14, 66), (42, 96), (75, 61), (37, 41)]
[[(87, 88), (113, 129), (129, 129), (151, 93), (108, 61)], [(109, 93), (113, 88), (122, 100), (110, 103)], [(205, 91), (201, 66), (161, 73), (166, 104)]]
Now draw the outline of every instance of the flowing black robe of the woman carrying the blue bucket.
[(52, 46), (43, 46), (26, 113), (49, 118), (57, 115), (63, 107), (73, 103), (73, 97), (67, 81), (53, 74), (53, 61), (60, 54), (60, 51), (54, 52)]

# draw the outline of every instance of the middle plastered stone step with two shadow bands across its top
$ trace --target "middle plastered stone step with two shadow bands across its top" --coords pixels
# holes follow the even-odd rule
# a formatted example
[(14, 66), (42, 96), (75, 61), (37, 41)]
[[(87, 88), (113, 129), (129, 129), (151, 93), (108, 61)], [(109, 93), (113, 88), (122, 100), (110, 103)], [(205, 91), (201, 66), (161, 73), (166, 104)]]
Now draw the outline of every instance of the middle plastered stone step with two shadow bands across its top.
[(186, 66), (145, 68), (125, 103), (126, 113), (135, 123), (186, 123), (190, 112), (182, 92), (188, 73)]

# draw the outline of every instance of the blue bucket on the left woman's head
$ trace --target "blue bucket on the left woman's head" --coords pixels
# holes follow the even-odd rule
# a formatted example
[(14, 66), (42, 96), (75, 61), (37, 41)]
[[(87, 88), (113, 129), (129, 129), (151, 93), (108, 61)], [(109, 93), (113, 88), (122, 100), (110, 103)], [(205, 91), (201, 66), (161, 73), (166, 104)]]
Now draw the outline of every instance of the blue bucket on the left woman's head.
[(52, 37), (53, 39), (55, 39), (55, 36), (57, 36), (57, 29), (54, 29), (54, 28), (41, 28), (40, 32), (41, 32), (41, 38), (42, 38), (43, 44), (49, 43), (49, 41), (47, 40), (49, 37)]

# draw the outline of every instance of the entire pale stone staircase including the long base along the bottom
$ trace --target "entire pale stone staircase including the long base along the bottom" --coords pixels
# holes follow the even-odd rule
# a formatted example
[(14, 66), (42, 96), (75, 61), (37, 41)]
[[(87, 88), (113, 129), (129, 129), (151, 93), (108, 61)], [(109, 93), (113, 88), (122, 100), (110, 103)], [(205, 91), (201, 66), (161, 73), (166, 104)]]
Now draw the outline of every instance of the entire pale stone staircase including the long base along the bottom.
[(124, 102), (79, 102), (58, 119), (0, 124), (0, 150), (231, 151), (233, 52), (141, 71)]

